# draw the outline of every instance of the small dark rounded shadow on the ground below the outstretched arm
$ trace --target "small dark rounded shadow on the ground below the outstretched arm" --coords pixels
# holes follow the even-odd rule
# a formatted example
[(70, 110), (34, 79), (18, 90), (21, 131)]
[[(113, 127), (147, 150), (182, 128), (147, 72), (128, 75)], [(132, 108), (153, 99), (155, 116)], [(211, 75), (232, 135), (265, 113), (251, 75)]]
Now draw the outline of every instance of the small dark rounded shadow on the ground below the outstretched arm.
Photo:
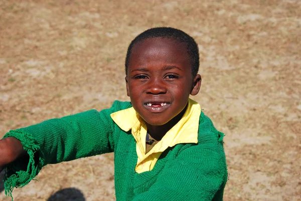
[(85, 201), (85, 197), (76, 188), (64, 188), (51, 195), (47, 201)]

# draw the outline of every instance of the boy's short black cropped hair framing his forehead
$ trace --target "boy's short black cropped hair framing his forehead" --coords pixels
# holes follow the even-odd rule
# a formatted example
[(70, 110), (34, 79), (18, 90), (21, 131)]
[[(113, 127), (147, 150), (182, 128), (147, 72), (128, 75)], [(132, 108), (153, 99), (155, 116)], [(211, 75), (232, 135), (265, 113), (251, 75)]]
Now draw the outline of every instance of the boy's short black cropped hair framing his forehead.
[(169, 38), (179, 41), (180, 43), (184, 43), (186, 45), (187, 53), (190, 58), (192, 76), (195, 77), (198, 74), (200, 66), (198, 44), (191, 36), (189, 36), (185, 32), (171, 27), (157, 27), (148, 29), (136, 36), (136, 38), (134, 38), (134, 40), (130, 42), (125, 58), (125, 74), (127, 74), (129, 57), (133, 46), (138, 42), (151, 38)]

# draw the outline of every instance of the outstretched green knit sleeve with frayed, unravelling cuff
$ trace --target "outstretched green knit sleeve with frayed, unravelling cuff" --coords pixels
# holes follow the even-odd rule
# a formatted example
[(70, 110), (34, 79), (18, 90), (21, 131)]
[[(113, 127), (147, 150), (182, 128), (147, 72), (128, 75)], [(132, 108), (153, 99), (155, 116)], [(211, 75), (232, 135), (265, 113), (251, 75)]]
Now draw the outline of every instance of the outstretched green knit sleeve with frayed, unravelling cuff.
[(27, 155), (5, 169), (5, 193), (28, 184), (47, 164), (114, 151), (114, 123), (110, 114), (118, 109), (86, 112), (50, 119), (26, 128), (11, 130), (6, 137), (19, 139)]

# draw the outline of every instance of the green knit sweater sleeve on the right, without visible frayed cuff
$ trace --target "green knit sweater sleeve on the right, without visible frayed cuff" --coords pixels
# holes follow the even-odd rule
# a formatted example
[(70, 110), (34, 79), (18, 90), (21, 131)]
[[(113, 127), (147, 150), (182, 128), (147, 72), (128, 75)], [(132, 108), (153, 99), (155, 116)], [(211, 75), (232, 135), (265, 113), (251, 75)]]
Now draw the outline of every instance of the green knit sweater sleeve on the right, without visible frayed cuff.
[(221, 201), (227, 167), (223, 142), (212, 134), (218, 133), (205, 133), (202, 142), (183, 150), (164, 167), (148, 191), (136, 195), (132, 201)]

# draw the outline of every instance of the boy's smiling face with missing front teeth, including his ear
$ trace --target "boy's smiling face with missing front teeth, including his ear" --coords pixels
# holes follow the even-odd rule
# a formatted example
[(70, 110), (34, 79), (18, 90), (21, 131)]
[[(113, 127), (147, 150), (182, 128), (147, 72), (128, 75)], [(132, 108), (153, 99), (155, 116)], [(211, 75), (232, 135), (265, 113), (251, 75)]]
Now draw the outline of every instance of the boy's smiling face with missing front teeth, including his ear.
[(150, 125), (176, 117), (201, 86), (201, 76), (192, 76), (185, 45), (166, 38), (134, 45), (125, 80), (133, 108)]

